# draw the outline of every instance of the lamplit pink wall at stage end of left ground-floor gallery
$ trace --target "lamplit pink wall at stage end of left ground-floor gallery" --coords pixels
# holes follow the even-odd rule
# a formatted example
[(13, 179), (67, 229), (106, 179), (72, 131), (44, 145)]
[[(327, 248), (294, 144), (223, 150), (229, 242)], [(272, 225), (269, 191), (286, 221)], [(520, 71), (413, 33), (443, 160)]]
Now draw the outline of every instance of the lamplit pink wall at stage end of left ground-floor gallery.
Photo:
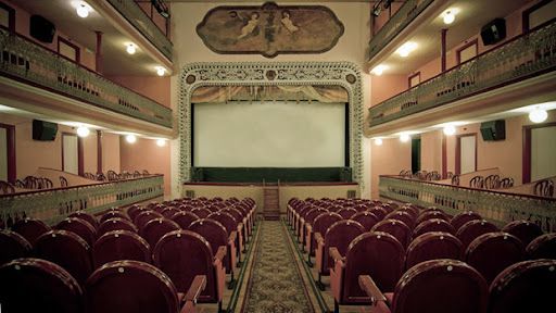
[(170, 193), (169, 142), (159, 147), (156, 140), (138, 138), (137, 142), (128, 143), (122, 137), (119, 145), (122, 171), (147, 170), (151, 174), (164, 174), (164, 193)]

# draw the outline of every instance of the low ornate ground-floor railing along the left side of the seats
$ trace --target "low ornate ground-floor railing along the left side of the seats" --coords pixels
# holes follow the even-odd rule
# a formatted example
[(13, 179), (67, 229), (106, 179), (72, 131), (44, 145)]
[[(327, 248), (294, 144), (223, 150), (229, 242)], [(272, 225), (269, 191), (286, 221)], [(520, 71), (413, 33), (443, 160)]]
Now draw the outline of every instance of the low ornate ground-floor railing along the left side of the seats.
[(55, 224), (78, 210), (94, 214), (163, 195), (163, 175), (3, 195), (0, 196), (0, 218), (9, 224), (8, 221), (28, 216)]

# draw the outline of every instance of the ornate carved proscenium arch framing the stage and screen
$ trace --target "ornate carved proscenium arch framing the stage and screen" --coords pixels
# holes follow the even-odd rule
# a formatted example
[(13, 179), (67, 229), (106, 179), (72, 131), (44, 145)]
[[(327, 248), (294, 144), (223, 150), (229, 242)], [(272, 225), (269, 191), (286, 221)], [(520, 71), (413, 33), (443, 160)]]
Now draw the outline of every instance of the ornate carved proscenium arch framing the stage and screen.
[(341, 86), (350, 108), (350, 167), (363, 188), (362, 75), (351, 62), (200, 62), (185, 65), (179, 74), (178, 143), (179, 184), (191, 179), (191, 96), (205, 86)]

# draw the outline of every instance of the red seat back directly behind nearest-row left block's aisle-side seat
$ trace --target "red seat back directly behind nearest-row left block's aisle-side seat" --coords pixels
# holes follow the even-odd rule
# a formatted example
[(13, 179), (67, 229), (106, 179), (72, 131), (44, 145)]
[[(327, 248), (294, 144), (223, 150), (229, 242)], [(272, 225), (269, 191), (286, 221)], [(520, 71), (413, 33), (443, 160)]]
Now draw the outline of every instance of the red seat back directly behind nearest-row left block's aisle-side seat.
[(119, 260), (135, 260), (151, 263), (149, 243), (136, 233), (112, 230), (102, 235), (92, 246), (94, 267)]

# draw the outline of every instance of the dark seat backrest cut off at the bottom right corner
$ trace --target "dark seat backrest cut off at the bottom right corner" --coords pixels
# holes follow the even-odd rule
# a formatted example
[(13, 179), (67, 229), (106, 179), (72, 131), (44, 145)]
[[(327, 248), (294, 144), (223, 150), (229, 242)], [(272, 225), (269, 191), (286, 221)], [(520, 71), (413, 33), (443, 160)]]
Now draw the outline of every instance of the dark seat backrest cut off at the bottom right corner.
[(555, 268), (556, 260), (549, 259), (523, 261), (507, 267), (491, 284), (489, 312), (553, 312)]

